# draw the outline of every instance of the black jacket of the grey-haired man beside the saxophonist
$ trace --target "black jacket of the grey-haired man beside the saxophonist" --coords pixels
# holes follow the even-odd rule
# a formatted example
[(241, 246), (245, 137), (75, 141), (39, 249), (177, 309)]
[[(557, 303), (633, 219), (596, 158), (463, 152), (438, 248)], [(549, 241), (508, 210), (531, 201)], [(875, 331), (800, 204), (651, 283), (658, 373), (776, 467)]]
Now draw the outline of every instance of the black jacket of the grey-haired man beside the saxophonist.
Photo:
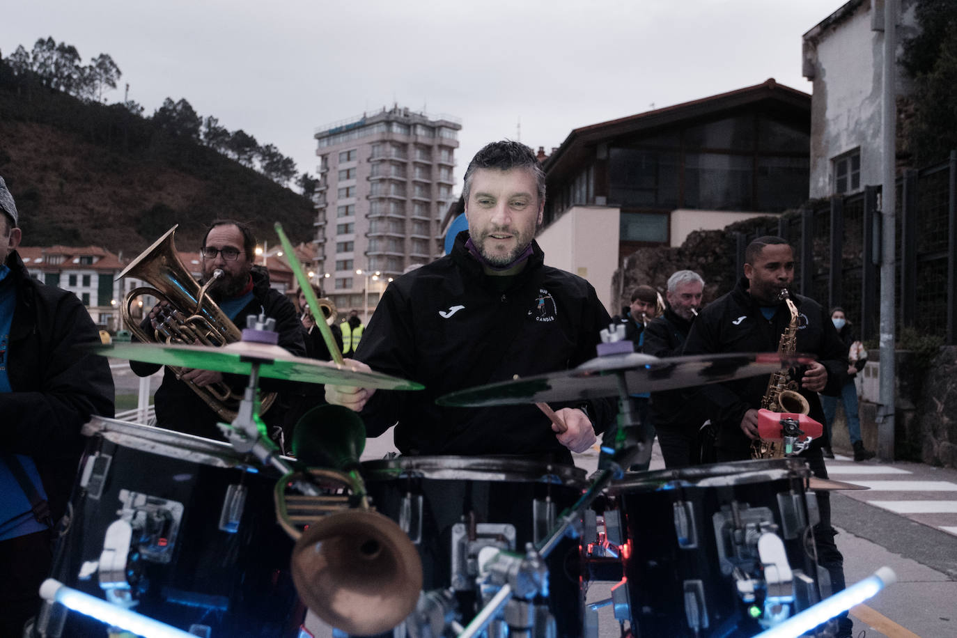
[[(645, 328), (641, 351), (661, 359), (678, 357), (690, 330), (691, 321), (682, 319), (668, 306), (661, 317), (653, 319)], [(687, 398), (688, 392), (684, 389), (652, 392), (650, 410), (655, 427), (697, 431), (704, 418), (699, 406)]]

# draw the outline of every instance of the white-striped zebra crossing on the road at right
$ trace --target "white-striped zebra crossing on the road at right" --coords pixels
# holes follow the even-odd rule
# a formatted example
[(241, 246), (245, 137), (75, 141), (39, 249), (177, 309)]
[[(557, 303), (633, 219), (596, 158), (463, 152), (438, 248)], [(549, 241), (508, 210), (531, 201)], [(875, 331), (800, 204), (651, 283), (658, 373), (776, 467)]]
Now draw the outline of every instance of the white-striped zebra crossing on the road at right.
[(835, 480), (868, 488), (841, 494), (957, 536), (957, 470), (921, 463), (856, 463), (840, 454), (828, 460), (827, 468)]

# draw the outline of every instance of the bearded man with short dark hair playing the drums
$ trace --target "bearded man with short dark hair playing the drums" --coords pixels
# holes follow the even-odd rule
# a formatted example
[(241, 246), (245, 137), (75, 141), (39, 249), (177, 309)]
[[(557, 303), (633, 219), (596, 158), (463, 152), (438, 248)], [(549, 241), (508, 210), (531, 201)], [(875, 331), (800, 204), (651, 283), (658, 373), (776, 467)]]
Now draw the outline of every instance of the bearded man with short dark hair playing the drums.
[(486, 145), (465, 172), (463, 198), (468, 231), (450, 255), (389, 284), (356, 355), (359, 369), (425, 390), (327, 385), (326, 399), (361, 410), (369, 436), (397, 422), (404, 454), (546, 455), (570, 465), (569, 451), (587, 450), (611, 420), (606, 402), (557, 409), (568, 426), (557, 435), (533, 406), (435, 405), (454, 390), (584, 363), (610, 321), (590, 283), (544, 264), (534, 236), (545, 175), (530, 148)]

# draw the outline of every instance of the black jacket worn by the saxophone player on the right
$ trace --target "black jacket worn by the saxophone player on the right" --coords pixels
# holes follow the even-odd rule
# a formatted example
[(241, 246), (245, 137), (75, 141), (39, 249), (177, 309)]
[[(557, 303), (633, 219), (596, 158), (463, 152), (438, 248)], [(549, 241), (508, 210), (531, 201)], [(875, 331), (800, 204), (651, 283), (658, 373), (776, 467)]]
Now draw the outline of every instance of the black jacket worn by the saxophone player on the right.
[[(759, 304), (748, 294), (747, 286), (746, 277), (742, 277), (734, 290), (701, 310), (684, 343), (684, 354), (777, 351), (781, 335), (790, 322), (788, 306), (780, 304), (774, 316), (765, 319)], [(847, 348), (820, 304), (801, 295), (791, 295), (791, 299), (799, 314), (797, 352), (813, 355), (824, 364), (828, 382), (822, 394), (835, 396), (847, 375)], [(767, 390), (768, 375), (702, 385), (698, 389), (698, 395), (706, 402), (708, 418), (718, 427), (719, 448), (747, 458), (750, 441), (741, 430), (741, 420), (747, 409), (761, 407)], [(811, 404), (811, 418), (823, 424), (824, 412), (817, 393), (800, 391)], [(824, 443), (822, 436), (812, 446)]]

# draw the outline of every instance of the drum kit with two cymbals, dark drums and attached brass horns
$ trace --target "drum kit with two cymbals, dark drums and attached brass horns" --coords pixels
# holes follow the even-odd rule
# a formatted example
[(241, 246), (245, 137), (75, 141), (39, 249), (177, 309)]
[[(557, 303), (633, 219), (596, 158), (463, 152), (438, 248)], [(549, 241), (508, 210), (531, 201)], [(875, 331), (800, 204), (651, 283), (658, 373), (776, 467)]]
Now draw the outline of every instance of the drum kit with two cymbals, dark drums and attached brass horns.
[[(305, 636), (308, 610), (337, 636), (752, 636), (831, 593), (816, 564), (813, 490), (853, 486), (809, 483), (793, 457), (626, 471), (651, 453), (631, 394), (769, 374), (808, 358), (657, 359), (603, 343), (598, 358), (571, 370), (439, 399), (481, 407), (617, 397), (617, 434), (586, 476), (522, 457), (362, 462), (365, 428), (334, 406), (307, 412), (294, 455), (284, 456), (259, 419), (260, 377), (421, 385), (355, 371), (341, 358), (291, 356), (271, 327), (251, 317), (242, 341), (220, 347), (98, 347), (114, 358), (245, 375), (248, 384), (233, 422), (220, 424), (228, 442), (100, 417), (84, 427), (38, 635), (102, 635), (105, 622), (110, 635)], [(586, 605), (595, 583), (611, 595)], [(607, 606), (616, 627), (598, 627)]]

